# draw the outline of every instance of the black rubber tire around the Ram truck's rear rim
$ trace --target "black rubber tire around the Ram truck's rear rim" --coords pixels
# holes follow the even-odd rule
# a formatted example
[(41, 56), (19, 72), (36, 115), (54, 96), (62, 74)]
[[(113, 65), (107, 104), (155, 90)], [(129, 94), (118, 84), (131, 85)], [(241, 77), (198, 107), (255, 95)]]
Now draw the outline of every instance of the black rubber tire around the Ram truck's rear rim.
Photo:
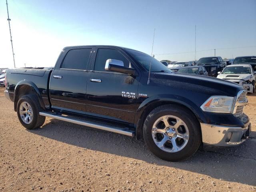
[[(26, 124), (25, 122), (23, 122), (20, 116), (20, 105), (22, 104), (22, 102), (27, 102), (28, 104), (30, 104), (32, 108), (33, 118), (29, 124)], [(40, 111), (42, 111), (42, 107), (40, 106), (38, 102), (38, 98), (35, 95), (24, 95), (18, 100), (18, 104), (17, 104), (18, 118), (22, 126), (24, 126), (26, 129), (36, 129), (44, 124), (45, 116), (39, 115)]]

